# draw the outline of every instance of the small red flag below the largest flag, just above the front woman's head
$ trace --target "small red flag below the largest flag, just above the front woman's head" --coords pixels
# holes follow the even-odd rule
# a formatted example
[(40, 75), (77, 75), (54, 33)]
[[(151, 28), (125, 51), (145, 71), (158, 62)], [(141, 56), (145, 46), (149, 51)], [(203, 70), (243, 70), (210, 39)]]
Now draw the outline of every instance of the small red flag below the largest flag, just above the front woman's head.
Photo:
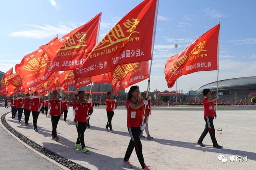
[(118, 65), (108, 75), (112, 89), (118, 94), (118, 91), (148, 78), (148, 61)]

